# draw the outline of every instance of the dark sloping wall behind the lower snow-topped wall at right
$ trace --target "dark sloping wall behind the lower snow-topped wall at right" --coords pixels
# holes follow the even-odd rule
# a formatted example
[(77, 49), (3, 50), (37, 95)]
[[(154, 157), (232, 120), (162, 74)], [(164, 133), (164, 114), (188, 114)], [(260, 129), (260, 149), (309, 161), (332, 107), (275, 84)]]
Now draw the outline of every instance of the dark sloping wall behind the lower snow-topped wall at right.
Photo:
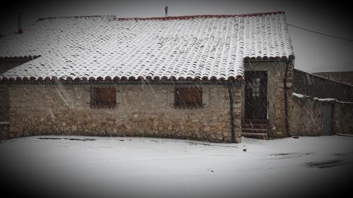
[(353, 101), (353, 86), (294, 69), (294, 92), (318, 98)]

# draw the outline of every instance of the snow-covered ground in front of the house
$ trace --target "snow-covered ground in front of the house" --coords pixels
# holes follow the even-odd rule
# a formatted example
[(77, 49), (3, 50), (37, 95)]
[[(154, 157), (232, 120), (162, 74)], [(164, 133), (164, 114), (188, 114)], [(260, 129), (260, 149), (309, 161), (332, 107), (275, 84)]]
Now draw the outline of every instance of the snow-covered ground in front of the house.
[(241, 144), (143, 137), (24, 137), (0, 144), (1, 193), (316, 197), (342, 192), (353, 181), (352, 148), (353, 137), (343, 136), (243, 138)]

